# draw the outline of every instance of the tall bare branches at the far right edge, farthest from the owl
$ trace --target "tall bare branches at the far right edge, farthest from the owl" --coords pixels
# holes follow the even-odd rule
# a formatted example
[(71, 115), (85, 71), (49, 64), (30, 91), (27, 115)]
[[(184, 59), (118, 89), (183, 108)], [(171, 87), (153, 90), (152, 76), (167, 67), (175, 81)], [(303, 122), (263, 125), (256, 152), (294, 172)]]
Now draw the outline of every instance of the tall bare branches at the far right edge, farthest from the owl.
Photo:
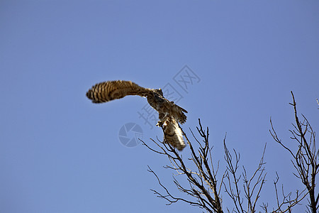
[[(276, 131), (274, 130), (272, 119), (270, 119), (270, 124), (272, 126), (270, 133), (272, 134), (274, 141), (279, 143), (291, 154), (291, 163), (296, 169), (296, 172), (293, 173), (293, 175), (301, 180), (308, 193), (308, 212), (315, 213), (319, 208), (319, 194), (315, 194), (315, 176), (319, 172), (319, 150), (315, 147), (315, 132), (313, 131), (313, 128), (310, 126), (309, 121), (303, 114), (301, 114), (303, 121), (299, 121), (296, 107), (297, 104), (295, 97), (293, 96), (293, 92), (291, 92), (291, 96), (293, 98), (293, 103), (290, 104), (293, 106), (296, 124), (292, 124), (293, 129), (289, 131), (292, 135), (292, 141), (296, 142), (297, 144), (297, 149), (289, 147), (281, 142), (281, 139), (278, 138)], [(296, 151), (293, 151), (294, 149)]]

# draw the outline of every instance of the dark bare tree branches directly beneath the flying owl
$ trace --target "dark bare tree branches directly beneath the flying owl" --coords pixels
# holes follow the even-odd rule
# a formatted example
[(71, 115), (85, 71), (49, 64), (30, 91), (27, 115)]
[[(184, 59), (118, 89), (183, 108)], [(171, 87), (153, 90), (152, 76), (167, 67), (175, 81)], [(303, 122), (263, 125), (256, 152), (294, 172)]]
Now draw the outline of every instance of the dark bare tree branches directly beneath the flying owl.
[[(174, 184), (181, 192), (184, 192), (189, 197), (193, 197), (194, 201), (172, 195), (167, 187), (162, 185), (162, 182), (160, 182), (156, 173), (149, 167), (149, 171), (155, 175), (159, 182), (159, 185), (164, 188), (166, 194), (162, 195), (157, 190), (152, 191), (155, 192), (158, 197), (167, 200), (169, 202), (168, 204), (172, 204), (177, 201), (183, 201), (191, 205), (198, 206), (202, 209), (206, 209), (207, 212), (221, 213), (223, 212), (220, 200), (221, 185), (217, 185), (216, 175), (218, 173), (218, 169), (214, 170), (213, 168), (211, 148), (208, 141), (208, 128), (206, 129), (206, 131), (204, 131), (201, 126), (201, 121), (199, 121), (199, 126), (199, 128), (197, 127), (197, 131), (201, 134), (203, 141), (198, 141), (195, 138), (194, 133), (191, 131), (199, 145), (198, 153), (196, 153), (194, 147), (189, 141), (189, 138), (183, 131), (183, 135), (185, 136), (191, 151), (191, 158), (187, 160), (184, 160), (180, 153), (178, 153), (169, 143), (159, 141), (158, 139), (157, 141), (152, 140), (154, 143), (157, 144), (159, 148), (159, 151), (156, 151), (142, 141), (142, 143), (147, 146), (147, 148), (150, 148), (150, 150), (161, 155), (166, 155), (167, 158), (169, 158), (169, 161), (172, 165), (166, 165), (164, 166), (164, 168), (175, 170), (177, 174), (186, 176), (189, 182), (189, 186), (186, 187), (181, 185), (179, 181), (173, 176)], [(193, 162), (194, 165), (196, 165), (196, 170), (191, 170), (191, 168), (186, 165), (186, 163), (188, 163), (187, 161), (189, 160)]]

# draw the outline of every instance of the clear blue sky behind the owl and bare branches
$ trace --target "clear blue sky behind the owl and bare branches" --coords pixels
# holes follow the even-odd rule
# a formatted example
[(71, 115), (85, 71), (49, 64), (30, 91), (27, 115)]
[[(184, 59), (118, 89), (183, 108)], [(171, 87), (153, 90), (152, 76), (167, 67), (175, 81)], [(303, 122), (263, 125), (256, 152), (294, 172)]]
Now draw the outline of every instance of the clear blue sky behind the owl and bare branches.
[[(275, 171), (287, 191), (302, 189), (269, 118), (291, 143), (292, 90), (319, 130), (318, 11), (291, 0), (1, 1), (0, 212), (199, 211), (152, 194), (161, 188), (147, 165), (174, 189), (167, 159), (118, 133), (133, 122), (152, 146), (162, 132), (139, 118), (141, 97), (91, 104), (86, 91), (106, 80), (171, 84), (189, 111), (184, 131), (191, 138), (201, 118), (221, 165), (226, 132), (249, 174), (267, 143), (259, 204), (274, 204)], [(198, 77), (186, 91), (174, 81), (185, 65)]]

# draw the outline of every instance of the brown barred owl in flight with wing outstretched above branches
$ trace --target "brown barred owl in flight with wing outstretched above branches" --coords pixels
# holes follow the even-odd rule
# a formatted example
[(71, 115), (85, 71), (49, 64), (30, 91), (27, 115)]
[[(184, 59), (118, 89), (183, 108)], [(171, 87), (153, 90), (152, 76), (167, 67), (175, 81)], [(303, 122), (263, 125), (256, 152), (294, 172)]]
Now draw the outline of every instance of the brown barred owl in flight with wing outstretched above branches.
[(184, 113), (187, 111), (165, 99), (162, 89), (148, 89), (140, 87), (134, 82), (117, 80), (95, 84), (86, 92), (86, 97), (96, 104), (121, 99), (127, 95), (139, 95), (147, 98), (150, 106), (159, 113), (159, 121), (156, 125), (162, 127), (164, 141), (182, 151), (185, 142), (178, 123), (185, 123), (186, 115)]

